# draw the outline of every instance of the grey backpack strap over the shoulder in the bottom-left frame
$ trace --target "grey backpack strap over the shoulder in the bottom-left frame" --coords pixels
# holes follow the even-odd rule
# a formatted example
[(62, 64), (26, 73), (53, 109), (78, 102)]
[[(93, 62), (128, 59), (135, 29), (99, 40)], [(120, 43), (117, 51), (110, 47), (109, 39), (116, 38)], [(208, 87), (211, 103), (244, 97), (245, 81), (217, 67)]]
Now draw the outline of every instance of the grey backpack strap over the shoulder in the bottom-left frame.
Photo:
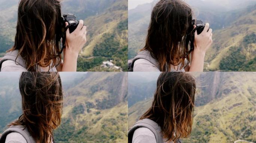
[(6, 140), (6, 136), (13, 132), (21, 134), (25, 138), (27, 143), (36, 143), (27, 128), (24, 128), (24, 126), (21, 125), (10, 126), (6, 131), (4, 131), (0, 138), (0, 143), (4, 143)]

